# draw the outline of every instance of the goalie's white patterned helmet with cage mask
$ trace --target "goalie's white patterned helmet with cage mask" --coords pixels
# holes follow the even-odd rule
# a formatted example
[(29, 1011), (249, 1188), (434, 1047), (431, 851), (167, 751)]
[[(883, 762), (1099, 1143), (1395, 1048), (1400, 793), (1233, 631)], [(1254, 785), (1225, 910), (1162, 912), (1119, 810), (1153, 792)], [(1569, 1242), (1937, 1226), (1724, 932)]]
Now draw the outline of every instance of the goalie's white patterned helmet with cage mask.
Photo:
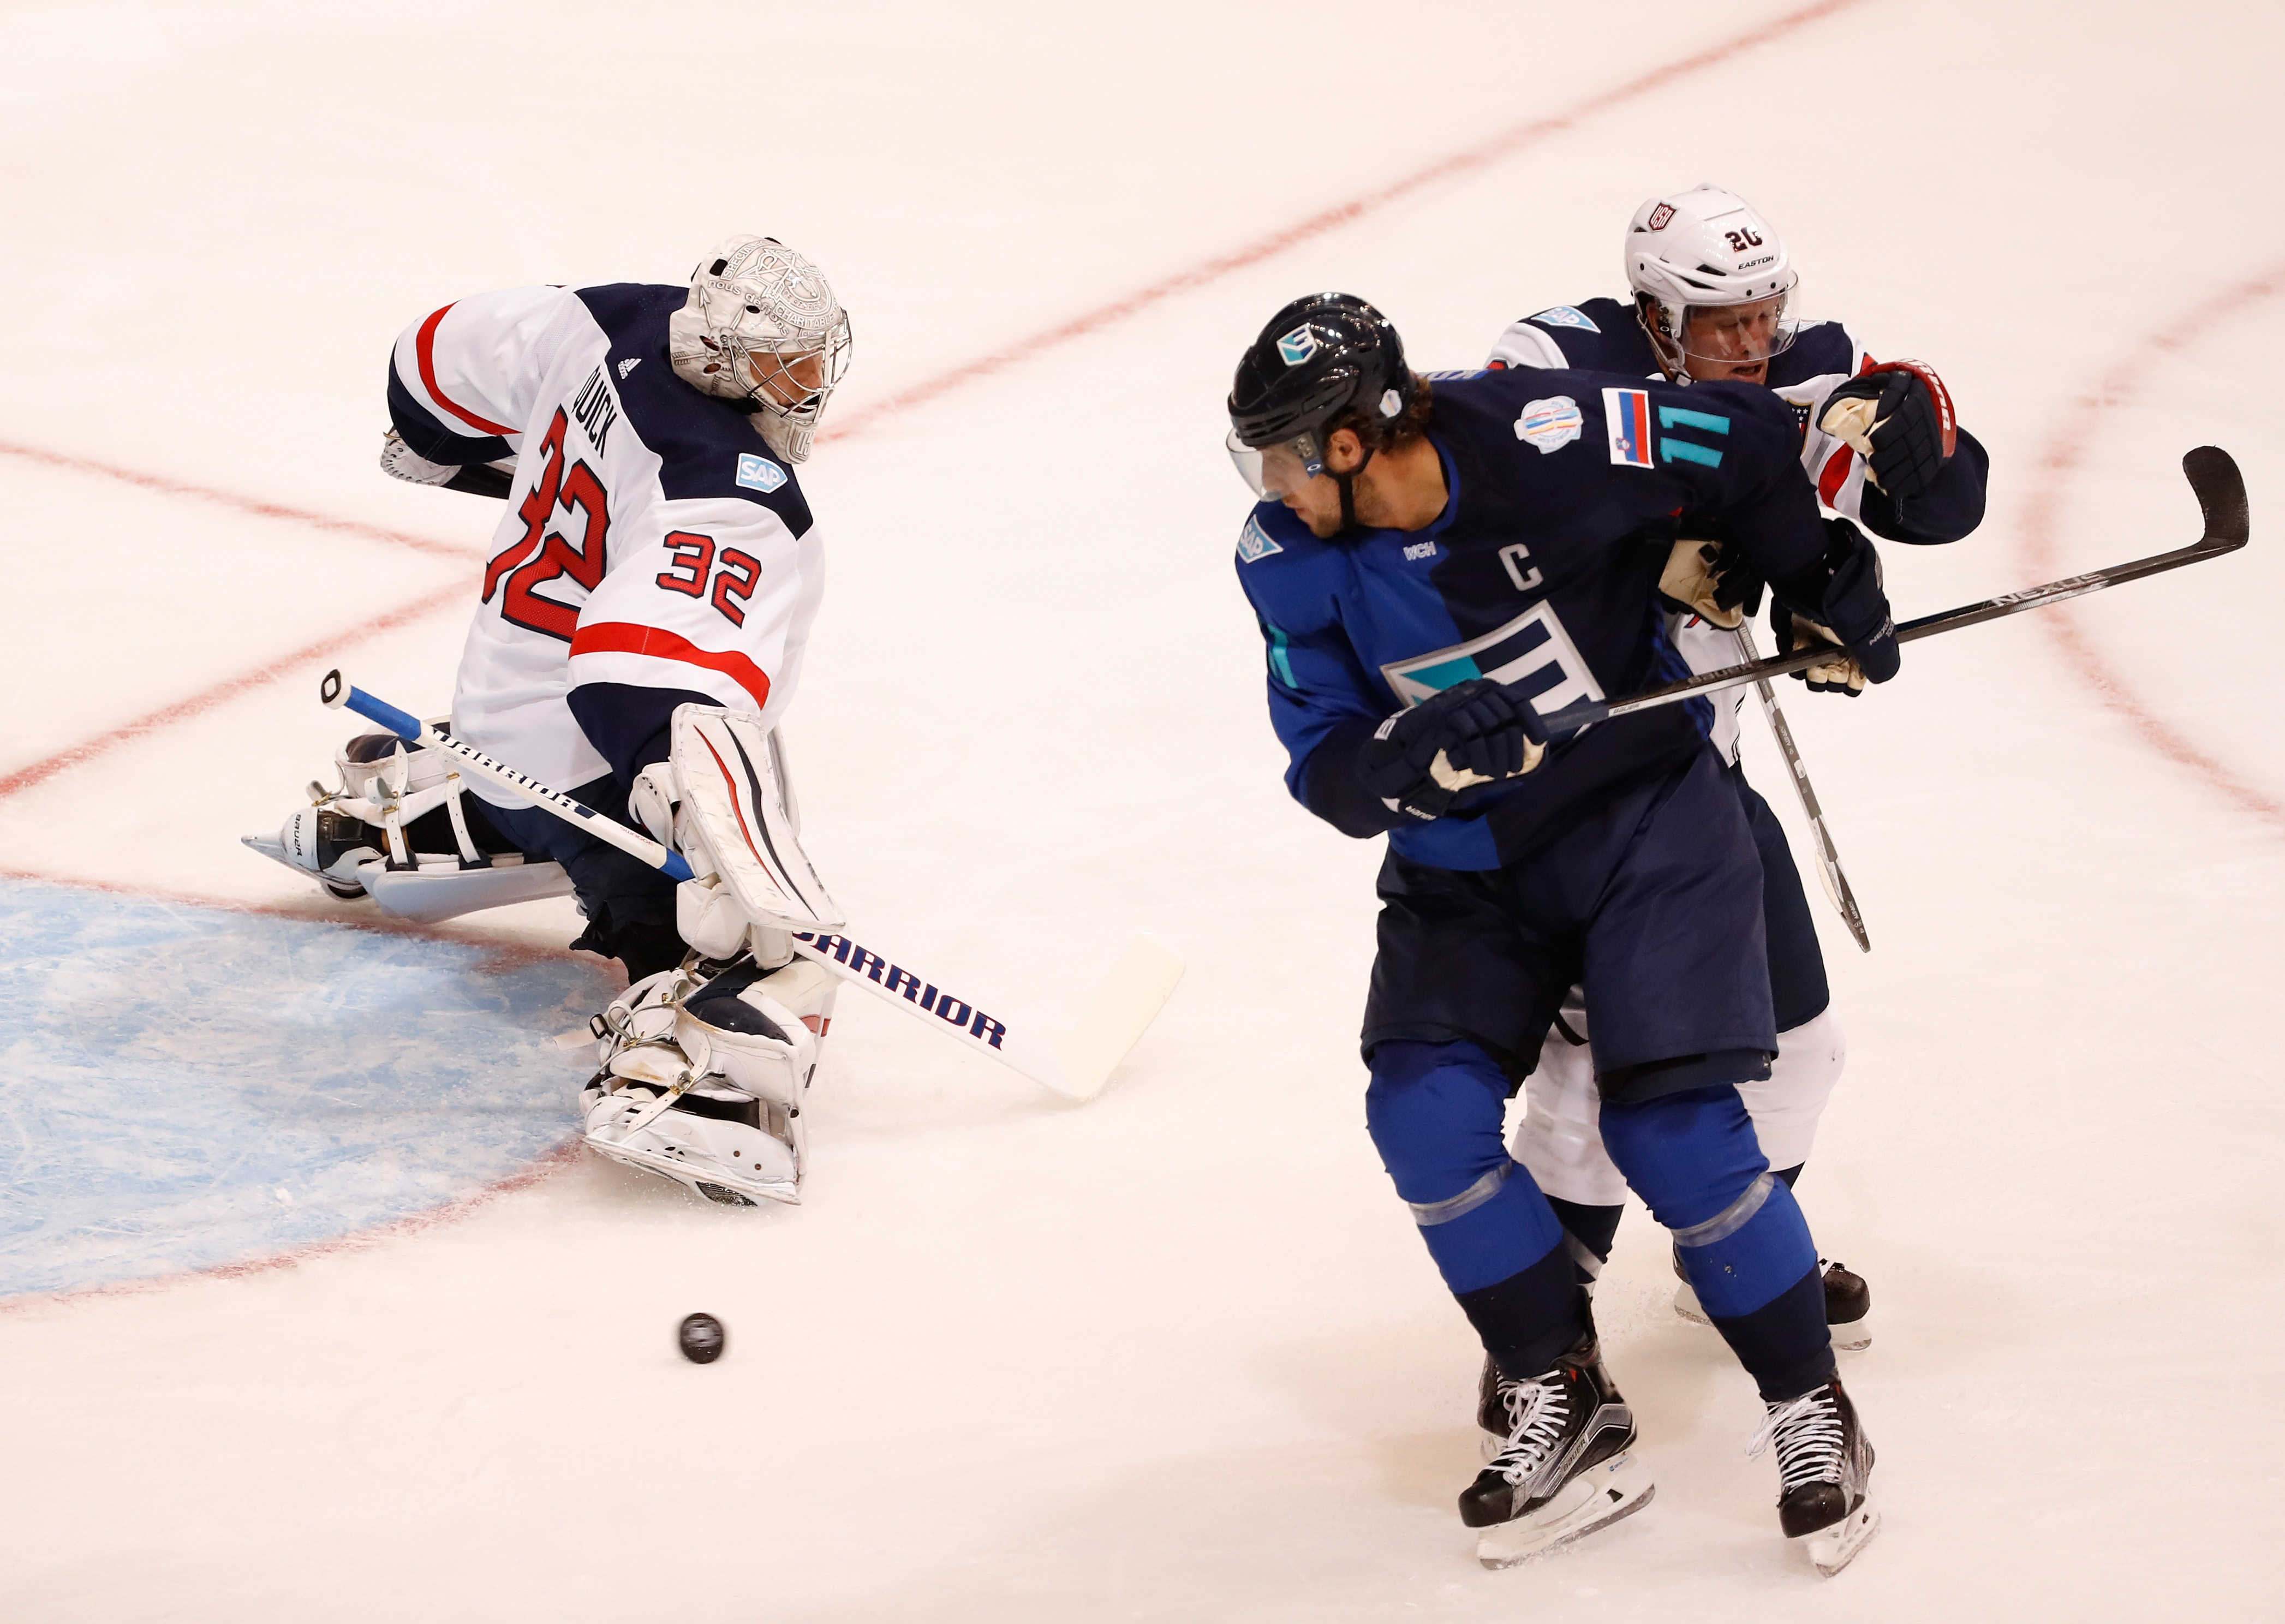
[(745, 400), (786, 461), (809, 457), (825, 400), (850, 363), (850, 317), (825, 274), (777, 238), (729, 238), (690, 272), (690, 299), (667, 320), (674, 372), (722, 400)]

